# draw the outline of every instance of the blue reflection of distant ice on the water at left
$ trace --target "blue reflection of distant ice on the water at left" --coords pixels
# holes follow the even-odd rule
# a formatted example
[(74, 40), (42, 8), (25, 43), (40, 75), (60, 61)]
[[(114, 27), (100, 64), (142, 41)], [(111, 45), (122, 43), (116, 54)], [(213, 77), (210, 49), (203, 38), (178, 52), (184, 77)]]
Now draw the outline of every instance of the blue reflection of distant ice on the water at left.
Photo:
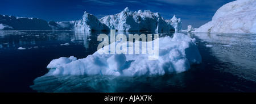
[(0, 49), (53, 47), (64, 43), (83, 44), (88, 49), (90, 36), (90, 32), (81, 31), (1, 31)]

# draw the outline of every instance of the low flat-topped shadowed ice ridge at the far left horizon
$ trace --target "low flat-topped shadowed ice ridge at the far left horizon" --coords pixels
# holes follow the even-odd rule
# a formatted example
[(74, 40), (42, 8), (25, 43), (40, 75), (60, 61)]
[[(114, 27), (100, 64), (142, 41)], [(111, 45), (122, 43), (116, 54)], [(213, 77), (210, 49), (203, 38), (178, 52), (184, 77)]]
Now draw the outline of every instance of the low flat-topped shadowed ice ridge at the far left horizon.
[(52, 30), (46, 20), (0, 15), (0, 30)]

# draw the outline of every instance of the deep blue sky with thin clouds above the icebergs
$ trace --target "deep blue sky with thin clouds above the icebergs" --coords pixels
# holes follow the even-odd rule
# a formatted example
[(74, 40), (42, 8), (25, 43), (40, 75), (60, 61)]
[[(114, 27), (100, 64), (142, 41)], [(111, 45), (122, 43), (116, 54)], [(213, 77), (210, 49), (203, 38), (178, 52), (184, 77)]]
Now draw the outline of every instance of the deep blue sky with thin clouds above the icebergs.
[(150, 10), (164, 19), (176, 15), (181, 18), (183, 29), (212, 20), (216, 11), (234, 0), (0, 0), (0, 14), (40, 18), (56, 22), (80, 20), (84, 11), (97, 18), (120, 13), (125, 7), (130, 11)]

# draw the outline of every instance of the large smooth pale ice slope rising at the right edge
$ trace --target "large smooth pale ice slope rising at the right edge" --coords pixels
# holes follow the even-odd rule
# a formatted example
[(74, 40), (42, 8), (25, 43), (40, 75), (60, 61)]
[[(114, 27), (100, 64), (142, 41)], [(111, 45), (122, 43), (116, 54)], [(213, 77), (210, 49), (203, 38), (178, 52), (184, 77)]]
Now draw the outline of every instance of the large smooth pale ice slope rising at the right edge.
[(256, 33), (256, 1), (237, 0), (223, 5), (212, 21), (195, 32)]

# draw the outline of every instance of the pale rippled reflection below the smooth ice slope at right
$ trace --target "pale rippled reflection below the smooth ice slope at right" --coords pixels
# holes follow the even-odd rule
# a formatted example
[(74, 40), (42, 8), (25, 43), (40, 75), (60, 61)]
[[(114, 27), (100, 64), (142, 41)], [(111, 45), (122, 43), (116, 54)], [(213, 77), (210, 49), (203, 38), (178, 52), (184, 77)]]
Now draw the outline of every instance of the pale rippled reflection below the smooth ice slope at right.
[(190, 34), (201, 40), (199, 45), (211, 46), (210, 54), (224, 64), (216, 69), (256, 81), (256, 34)]

